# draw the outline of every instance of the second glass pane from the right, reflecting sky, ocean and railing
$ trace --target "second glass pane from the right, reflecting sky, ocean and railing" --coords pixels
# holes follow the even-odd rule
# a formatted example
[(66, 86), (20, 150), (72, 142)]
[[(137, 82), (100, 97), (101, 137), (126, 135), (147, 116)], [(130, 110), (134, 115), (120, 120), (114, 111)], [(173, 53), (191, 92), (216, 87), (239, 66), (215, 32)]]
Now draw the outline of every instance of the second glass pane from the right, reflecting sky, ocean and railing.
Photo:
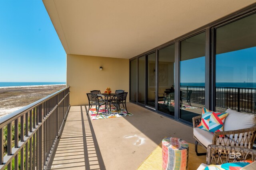
[(205, 32), (180, 43), (180, 118), (202, 114), (205, 83)]

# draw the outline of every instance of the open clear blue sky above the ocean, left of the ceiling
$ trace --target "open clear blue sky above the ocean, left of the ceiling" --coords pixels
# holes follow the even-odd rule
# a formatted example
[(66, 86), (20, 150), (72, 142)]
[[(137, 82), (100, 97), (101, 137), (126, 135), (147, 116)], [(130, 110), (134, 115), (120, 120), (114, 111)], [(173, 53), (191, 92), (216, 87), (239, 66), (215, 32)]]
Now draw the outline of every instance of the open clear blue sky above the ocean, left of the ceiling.
[(42, 0), (0, 0), (0, 82), (66, 82), (66, 52)]

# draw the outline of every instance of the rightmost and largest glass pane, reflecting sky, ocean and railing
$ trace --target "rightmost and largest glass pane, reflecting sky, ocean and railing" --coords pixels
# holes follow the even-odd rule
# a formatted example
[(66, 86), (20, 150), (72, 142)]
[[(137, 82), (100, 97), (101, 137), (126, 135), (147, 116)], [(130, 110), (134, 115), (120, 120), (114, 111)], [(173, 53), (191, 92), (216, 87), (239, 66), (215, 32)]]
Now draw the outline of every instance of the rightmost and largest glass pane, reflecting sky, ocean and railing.
[(256, 113), (256, 14), (216, 29), (216, 111)]

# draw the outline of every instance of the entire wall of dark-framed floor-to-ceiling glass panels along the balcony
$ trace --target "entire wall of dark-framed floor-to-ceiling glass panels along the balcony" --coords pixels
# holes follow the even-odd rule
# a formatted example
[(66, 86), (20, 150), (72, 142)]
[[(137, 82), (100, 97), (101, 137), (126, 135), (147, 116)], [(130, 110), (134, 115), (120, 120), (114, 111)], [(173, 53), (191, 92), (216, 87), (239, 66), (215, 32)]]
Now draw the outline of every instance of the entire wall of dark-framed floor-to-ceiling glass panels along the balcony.
[(246, 11), (131, 61), (130, 100), (190, 125), (205, 106), (256, 114), (256, 8)]

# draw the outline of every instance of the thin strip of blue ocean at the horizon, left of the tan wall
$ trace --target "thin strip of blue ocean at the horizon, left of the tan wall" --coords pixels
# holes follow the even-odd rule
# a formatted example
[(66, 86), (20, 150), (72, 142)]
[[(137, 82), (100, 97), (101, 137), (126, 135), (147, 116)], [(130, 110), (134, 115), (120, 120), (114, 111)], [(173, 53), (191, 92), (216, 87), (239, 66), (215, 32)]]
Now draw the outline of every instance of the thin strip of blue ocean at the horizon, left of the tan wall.
[(0, 87), (66, 84), (66, 82), (0, 82)]

